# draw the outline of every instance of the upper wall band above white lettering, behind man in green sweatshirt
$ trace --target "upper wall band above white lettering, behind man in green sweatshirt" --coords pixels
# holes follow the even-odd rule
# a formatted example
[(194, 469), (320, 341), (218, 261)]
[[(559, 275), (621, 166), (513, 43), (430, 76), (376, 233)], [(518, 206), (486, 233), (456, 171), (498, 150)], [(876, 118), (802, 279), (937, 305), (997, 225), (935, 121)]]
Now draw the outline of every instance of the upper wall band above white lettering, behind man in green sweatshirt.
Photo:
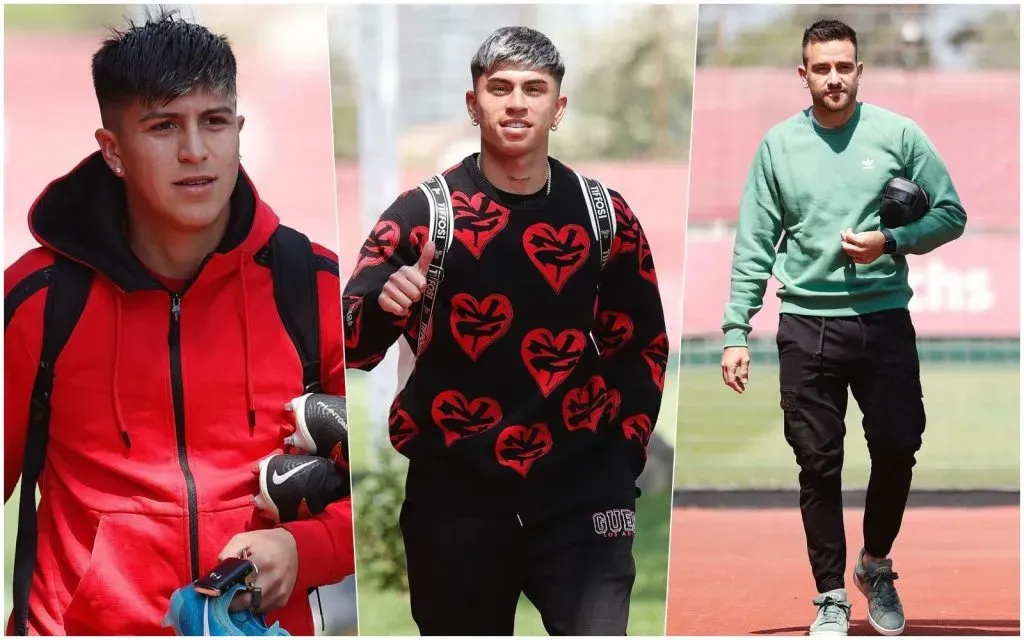
[[(864, 71), (858, 98), (916, 122), (945, 160), (969, 228), (1020, 227), (1020, 75)], [(690, 223), (735, 220), (764, 134), (808, 103), (795, 70), (699, 70)]]

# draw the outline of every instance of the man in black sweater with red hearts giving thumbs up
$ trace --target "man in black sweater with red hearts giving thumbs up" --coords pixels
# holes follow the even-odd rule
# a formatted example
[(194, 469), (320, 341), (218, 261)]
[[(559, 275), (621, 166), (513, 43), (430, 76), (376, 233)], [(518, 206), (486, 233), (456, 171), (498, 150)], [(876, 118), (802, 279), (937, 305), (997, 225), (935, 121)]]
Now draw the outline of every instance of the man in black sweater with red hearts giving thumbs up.
[[(668, 338), (650, 248), (621, 195), (607, 263), (577, 175), (548, 157), (566, 98), (544, 35), (495, 32), (466, 94), (481, 154), (444, 172), (454, 240), (424, 345), (390, 413), (409, 458), (400, 526), (424, 635), (511, 635), (524, 593), (552, 634), (625, 635), (636, 478)], [(416, 350), (435, 254), (414, 188), (344, 293), (347, 366)]]

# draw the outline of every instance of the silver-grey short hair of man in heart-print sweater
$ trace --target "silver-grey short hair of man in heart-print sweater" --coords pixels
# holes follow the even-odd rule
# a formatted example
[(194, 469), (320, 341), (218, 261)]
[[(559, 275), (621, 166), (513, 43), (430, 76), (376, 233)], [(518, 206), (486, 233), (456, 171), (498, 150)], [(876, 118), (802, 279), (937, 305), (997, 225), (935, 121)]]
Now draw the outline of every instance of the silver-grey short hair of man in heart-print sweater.
[(565, 76), (565, 62), (554, 43), (528, 27), (503, 27), (487, 36), (469, 63), (473, 85), (480, 76), (502, 65), (545, 71), (559, 86)]

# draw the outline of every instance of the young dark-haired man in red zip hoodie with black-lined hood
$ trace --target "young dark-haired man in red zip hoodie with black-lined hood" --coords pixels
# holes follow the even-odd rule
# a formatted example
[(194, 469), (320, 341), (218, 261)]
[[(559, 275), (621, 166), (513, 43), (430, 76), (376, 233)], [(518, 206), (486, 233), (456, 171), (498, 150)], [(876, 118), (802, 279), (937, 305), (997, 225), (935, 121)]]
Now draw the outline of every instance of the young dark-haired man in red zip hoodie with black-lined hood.
[[(240, 166), (226, 39), (164, 14), (106, 40), (92, 73), (99, 152), (39, 197), (29, 224), (42, 247), (4, 273), (5, 501), (36, 402), (49, 406), (28, 602), (19, 612), (15, 593), (8, 632), (167, 634), (172, 592), (245, 555), (257, 610), (311, 635), (308, 591), (354, 570), (350, 503), (274, 526), (255, 507), (254, 466), (276, 456), (274, 476), (296, 481), (316, 466), (282, 454), (297, 437), (286, 404), (305, 396), (304, 374), (344, 395), (337, 258), (311, 247), (318, 367), (304, 372), (271, 276), (289, 229)], [(69, 286), (66, 264), (87, 269), (88, 293), (46, 362), (47, 298)], [(33, 393), (50, 374), (52, 390)]]

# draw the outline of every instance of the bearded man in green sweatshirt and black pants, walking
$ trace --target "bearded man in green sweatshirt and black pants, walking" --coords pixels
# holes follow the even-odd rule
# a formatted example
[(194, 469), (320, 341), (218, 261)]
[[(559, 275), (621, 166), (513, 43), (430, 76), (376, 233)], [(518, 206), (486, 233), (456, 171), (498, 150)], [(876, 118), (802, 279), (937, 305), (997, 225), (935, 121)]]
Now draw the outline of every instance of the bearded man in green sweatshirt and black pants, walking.
[[(819, 592), (810, 632), (849, 629), (842, 470), (850, 389), (871, 458), (853, 580), (867, 598), (871, 626), (898, 635), (903, 608), (888, 556), (925, 430), (905, 256), (958, 238), (967, 214), (918, 125), (857, 100), (863, 63), (850, 27), (812, 25), (803, 60), (799, 74), (812, 106), (765, 135), (740, 203), (722, 377), (733, 390), (745, 389), (751, 318), (774, 274), (784, 432), (800, 466), (800, 509)], [(913, 222), (884, 228), (881, 195), (896, 176), (923, 188), (930, 206)]]

